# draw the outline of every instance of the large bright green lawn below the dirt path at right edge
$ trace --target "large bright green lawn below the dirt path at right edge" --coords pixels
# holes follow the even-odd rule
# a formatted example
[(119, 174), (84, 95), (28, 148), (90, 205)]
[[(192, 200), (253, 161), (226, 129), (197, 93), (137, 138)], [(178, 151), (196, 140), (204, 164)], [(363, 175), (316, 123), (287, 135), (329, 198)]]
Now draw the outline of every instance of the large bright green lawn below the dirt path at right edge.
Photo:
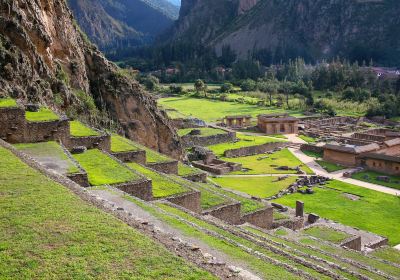
[[(314, 188), (313, 195), (295, 193), (275, 202), (294, 208), (296, 200), (301, 200), (308, 213), (386, 236), (392, 245), (400, 243), (399, 197), (339, 181), (330, 181), (327, 187)], [(360, 199), (350, 200), (345, 193), (358, 195)]]

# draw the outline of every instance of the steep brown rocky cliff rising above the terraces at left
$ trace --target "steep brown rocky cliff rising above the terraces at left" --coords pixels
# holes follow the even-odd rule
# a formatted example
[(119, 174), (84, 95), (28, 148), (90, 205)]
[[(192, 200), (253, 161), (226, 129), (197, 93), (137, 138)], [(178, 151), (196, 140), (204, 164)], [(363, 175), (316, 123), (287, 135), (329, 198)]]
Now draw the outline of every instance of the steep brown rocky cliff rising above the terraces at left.
[(155, 101), (85, 40), (64, 1), (0, 0), (0, 95), (68, 111), (81, 106), (82, 93), (131, 139), (179, 156)]

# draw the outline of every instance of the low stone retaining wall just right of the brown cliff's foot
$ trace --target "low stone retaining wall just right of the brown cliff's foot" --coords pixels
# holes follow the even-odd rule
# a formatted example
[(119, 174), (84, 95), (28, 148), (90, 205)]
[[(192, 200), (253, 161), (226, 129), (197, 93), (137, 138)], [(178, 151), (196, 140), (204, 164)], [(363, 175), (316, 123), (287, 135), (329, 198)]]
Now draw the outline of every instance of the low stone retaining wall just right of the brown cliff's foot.
[(233, 142), (236, 140), (236, 132), (227, 131), (223, 134), (201, 136), (201, 135), (185, 135), (181, 137), (182, 146), (190, 148), (194, 146), (211, 146), (220, 143)]

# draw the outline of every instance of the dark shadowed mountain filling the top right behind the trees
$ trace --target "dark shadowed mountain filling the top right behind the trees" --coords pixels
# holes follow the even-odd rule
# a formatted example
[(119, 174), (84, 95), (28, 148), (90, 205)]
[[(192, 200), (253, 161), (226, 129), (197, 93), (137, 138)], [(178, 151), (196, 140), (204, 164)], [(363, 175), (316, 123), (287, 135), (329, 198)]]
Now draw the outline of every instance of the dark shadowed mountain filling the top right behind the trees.
[(400, 64), (397, 0), (182, 0), (172, 42), (192, 41), (221, 54), (266, 64), (296, 56), (342, 56)]

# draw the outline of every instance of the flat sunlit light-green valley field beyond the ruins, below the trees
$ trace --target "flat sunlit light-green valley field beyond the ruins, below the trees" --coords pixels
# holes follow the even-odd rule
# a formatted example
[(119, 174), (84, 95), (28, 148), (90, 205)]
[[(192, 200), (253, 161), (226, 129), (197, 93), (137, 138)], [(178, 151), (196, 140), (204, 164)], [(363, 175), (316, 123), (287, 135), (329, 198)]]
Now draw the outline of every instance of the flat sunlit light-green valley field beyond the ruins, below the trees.
[(215, 122), (229, 115), (252, 115), (253, 117), (259, 114), (272, 113), (289, 113), (294, 116), (301, 115), (299, 111), (286, 111), (278, 108), (270, 109), (257, 105), (193, 97), (161, 98), (158, 100), (158, 104), (167, 109), (176, 109), (185, 116), (196, 117), (207, 122)]

